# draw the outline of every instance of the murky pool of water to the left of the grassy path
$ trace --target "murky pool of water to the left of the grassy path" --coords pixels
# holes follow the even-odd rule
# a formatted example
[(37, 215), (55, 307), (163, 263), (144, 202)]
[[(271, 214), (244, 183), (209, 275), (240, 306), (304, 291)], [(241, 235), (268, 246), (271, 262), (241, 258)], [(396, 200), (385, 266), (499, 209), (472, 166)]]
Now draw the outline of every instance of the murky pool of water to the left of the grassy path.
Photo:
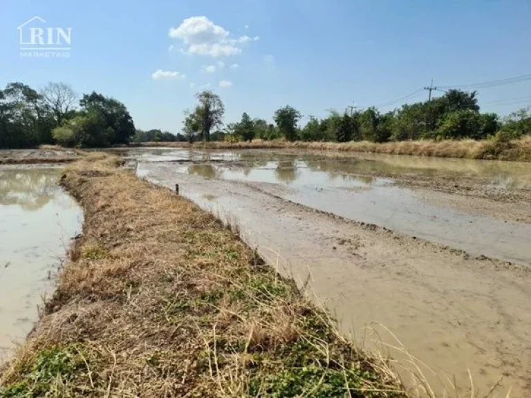
[(58, 185), (59, 168), (0, 168), (0, 361), (38, 319), (37, 306), (82, 211)]

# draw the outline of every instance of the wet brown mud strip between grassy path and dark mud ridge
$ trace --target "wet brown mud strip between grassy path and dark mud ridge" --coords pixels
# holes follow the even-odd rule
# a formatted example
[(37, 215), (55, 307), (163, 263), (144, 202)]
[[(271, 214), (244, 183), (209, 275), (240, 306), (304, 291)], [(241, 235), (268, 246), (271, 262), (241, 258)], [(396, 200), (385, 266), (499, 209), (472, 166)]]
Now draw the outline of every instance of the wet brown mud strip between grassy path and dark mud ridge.
[[(181, 194), (235, 222), (250, 245), (299, 285), (309, 281), (315, 301), (332, 310), (357, 343), (382, 348), (382, 339), (402, 364), (412, 355), (440, 395), (454, 395), (455, 375), (459, 393), (469, 396), (468, 370), (480, 397), (492, 388), (492, 397), (510, 390), (511, 397), (525, 397), (531, 389), (526, 267), (315, 211), (286, 200), (294, 185), (252, 181), (258, 178), (253, 171), (238, 181), (228, 171), (205, 179), (204, 170), (193, 170), (138, 165), (148, 180), (172, 189), (178, 182)], [(341, 206), (330, 200), (337, 214)], [(407, 379), (410, 372), (402, 375), (415, 383)]]

